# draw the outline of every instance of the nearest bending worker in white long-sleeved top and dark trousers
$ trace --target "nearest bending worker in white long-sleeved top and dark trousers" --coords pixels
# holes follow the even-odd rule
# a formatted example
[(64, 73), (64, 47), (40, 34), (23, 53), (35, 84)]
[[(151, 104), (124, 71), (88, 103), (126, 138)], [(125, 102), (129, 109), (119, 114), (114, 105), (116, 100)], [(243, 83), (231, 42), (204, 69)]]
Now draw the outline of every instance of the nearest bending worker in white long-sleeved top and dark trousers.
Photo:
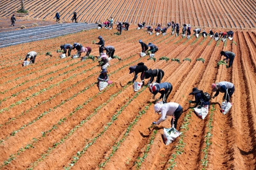
[(176, 129), (177, 122), (183, 112), (183, 108), (180, 106), (180, 104), (175, 102), (165, 104), (157, 103), (154, 105), (154, 111), (155, 113), (161, 114), (161, 118), (157, 122), (154, 121), (152, 124), (160, 124), (161, 122), (165, 121), (168, 116), (174, 116), (174, 120), (173, 118), (171, 120), (171, 125), (174, 125), (174, 128)]

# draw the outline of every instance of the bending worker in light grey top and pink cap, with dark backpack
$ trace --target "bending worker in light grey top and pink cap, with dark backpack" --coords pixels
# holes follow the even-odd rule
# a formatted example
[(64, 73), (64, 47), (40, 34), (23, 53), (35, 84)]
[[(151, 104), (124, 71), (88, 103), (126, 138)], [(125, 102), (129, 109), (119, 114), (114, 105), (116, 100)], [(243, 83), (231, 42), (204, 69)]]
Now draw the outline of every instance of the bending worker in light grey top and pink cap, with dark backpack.
[(228, 81), (221, 81), (219, 83), (212, 84), (212, 92), (216, 92), (215, 95), (212, 96), (212, 98), (215, 98), (216, 96), (218, 96), (219, 92), (222, 92), (224, 93), (222, 100), (224, 101), (227, 97), (227, 101), (230, 102), (230, 98), (233, 95), (234, 91), (234, 84)]

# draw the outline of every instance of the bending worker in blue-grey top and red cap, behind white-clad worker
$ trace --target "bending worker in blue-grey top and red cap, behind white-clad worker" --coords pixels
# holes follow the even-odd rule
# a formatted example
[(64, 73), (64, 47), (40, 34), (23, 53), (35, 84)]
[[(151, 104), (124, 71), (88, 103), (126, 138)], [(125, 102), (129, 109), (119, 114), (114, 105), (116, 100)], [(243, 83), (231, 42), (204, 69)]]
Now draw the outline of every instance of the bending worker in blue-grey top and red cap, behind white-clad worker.
[(168, 99), (170, 93), (172, 92), (172, 84), (170, 84), (168, 82), (156, 84), (152, 87), (151, 92), (153, 93), (153, 97), (152, 97), (153, 99), (154, 99), (155, 95), (159, 92), (161, 94), (161, 96), (160, 96), (160, 98), (157, 99), (157, 101), (159, 101), (162, 98), (163, 101), (167, 102), (167, 99)]

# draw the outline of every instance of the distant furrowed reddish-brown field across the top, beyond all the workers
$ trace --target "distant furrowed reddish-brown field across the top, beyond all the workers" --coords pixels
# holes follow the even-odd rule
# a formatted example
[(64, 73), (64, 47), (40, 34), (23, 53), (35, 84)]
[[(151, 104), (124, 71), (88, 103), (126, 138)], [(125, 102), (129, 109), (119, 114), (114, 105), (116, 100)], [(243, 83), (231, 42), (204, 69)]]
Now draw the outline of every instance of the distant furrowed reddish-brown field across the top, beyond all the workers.
[[(58, 11), (61, 20), (70, 21), (77, 12), (79, 22), (95, 23), (113, 16), (115, 22), (166, 25), (190, 23), (192, 26), (252, 28), (256, 26), (253, 0), (24, 0), (29, 18), (54, 20)], [(2, 0), (0, 17), (9, 17), (20, 9), (18, 0)]]

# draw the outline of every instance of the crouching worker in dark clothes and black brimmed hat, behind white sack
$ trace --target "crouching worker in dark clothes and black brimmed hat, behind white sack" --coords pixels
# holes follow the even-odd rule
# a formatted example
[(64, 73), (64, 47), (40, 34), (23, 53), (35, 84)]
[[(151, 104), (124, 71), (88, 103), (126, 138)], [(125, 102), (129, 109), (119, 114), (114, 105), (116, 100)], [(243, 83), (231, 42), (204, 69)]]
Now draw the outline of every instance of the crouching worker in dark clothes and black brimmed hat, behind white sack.
[(192, 92), (189, 95), (195, 95), (195, 101), (189, 101), (189, 103), (195, 103), (194, 107), (199, 106), (210, 106), (209, 100), (205, 99), (203, 90), (198, 90), (198, 88), (194, 87)]

